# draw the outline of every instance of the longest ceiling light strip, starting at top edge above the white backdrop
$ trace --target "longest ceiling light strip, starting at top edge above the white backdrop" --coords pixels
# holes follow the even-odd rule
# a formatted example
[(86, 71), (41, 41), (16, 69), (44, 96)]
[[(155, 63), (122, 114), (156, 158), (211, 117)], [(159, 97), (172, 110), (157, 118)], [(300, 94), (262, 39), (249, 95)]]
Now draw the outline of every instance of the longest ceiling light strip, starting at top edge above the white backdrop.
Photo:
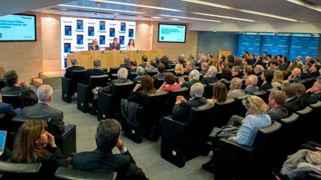
[(230, 16), (225, 16), (225, 15), (209, 14), (209, 13), (202, 13), (202, 12), (185, 11), (185, 10), (180, 10), (180, 9), (166, 8), (166, 7), (156, 7), (156, 6), (151, 6), (151, 5), (141, 5), (141, 4), (119, 2), (119, 1), (111, 1), (111, 0), (89, 0), (89, 1), (105, 2), (105, 3), (119, 4), (119, 5), (129, 5), (129, 6), (135, 6), (135, 7), (145, 7), (145, 8), (153, 8), (153, 9), (161, 9), (161, 10), (169, 10), (169, 11), (175, 11), (175, 12), (184, 12), (184, 13), (192, 13), (192, 14), (198, 14), (198, 15), (206, 15), (206, 16), (213, 16), (213, 17), (243, 20), (243, 21), (248, 21), (248, 22), (256, 22), (255, 20), (245, 19), (245, 18), (237, 18), (237, 17), (230, 17)]

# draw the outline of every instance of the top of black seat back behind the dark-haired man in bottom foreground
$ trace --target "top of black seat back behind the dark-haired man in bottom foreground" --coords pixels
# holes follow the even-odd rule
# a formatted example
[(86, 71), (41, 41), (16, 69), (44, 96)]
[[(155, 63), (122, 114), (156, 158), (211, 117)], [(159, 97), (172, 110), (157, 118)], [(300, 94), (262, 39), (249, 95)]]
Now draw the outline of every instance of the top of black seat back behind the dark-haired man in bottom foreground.
[(56, 178), (70, 180), (114, 180), (116, 179), (116, 175), (116, 172), (88, 172), (83, 170), (75, 170), (67, 167), (59, 167), (55, 172)]

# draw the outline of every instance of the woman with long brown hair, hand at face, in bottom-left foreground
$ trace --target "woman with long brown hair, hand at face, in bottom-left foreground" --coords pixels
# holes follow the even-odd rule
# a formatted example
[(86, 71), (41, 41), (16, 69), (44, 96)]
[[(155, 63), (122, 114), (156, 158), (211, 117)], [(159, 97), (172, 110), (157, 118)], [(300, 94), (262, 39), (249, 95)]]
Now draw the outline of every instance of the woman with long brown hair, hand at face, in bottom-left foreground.
[(12, 162), (42, 163), (44, 174), (53, 176), (59, 166), (67, 167), (55, 137), (46, 131), (47, 123), (32, 120), (23, 123), (16, 134)]

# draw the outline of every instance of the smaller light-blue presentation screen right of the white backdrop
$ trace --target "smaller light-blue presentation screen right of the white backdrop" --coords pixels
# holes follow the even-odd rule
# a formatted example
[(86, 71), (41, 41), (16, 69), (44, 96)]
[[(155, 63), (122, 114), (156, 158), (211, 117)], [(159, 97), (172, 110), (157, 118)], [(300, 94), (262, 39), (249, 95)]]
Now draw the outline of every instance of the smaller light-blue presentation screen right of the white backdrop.
[(186, 25), (158, 24), (158, 42), (186, 41)]

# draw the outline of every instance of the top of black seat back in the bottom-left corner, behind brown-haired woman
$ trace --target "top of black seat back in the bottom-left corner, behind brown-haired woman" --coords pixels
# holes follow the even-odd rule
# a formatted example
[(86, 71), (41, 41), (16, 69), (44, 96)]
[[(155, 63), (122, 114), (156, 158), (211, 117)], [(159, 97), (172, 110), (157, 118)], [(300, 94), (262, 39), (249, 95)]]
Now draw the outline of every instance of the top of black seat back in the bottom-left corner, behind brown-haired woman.
[(33, 174), (38, 173), (42, 163), (13, 163), (0, 161), (0, 173), (3, 174)]

